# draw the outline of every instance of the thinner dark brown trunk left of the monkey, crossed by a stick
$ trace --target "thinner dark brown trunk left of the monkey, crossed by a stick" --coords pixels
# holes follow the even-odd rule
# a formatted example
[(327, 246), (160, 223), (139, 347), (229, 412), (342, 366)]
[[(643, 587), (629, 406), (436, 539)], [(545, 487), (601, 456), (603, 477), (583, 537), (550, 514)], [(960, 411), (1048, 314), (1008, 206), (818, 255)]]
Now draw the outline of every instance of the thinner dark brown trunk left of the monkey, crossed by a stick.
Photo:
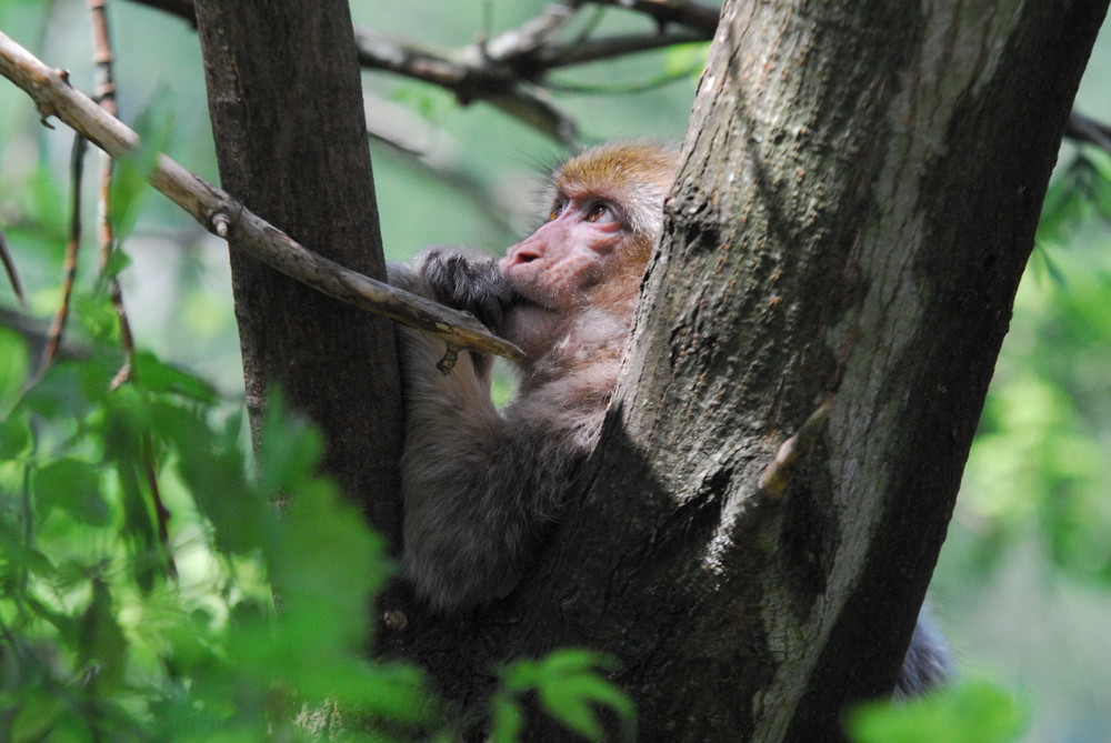
[[(302, 244), (384, 279), (348, 3), (196, 4), (223, 188)], [(256, 435), (266, 394), (280, 386), (323, 430), (326, 471), (397, 543), (391, 324), (234, 250), (231, 268)]]

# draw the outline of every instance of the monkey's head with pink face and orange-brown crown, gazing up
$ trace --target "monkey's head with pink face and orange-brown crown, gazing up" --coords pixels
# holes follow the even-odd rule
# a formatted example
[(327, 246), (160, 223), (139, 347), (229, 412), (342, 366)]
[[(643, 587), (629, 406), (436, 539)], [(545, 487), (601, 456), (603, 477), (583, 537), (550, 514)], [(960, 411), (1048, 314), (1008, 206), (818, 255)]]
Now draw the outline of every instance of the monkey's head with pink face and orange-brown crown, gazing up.
[(547, 220), (499, 263), (521, 300), (507, 338), (539, 355), (582, 309), (631, 313), (678, 164), (673, 150), (618, 142), (556, 170)]

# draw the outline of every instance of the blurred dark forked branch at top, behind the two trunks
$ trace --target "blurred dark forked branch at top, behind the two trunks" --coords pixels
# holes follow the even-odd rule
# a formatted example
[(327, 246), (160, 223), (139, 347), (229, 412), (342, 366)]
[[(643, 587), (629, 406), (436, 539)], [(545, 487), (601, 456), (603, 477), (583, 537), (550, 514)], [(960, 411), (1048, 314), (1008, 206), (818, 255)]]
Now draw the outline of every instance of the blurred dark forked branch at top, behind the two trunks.
[[(197, 24), (192, 0), (132, 0)], [(657, 30), (594, 39), (557, 39), (585, 6), (613, 7), (649, 16)], [(484, 101), (563, 143), (573, 145), (573, 119), (548, 100), (544, 77), (557, 68), (599, 62), (692, 41), (708, 41), (718, 26), (718, 8), (689, 0), (565, 0), (493, 39), (460, 49), (441, 49), (356, 27), (359, 63), (450, 90), (467, 106)]]

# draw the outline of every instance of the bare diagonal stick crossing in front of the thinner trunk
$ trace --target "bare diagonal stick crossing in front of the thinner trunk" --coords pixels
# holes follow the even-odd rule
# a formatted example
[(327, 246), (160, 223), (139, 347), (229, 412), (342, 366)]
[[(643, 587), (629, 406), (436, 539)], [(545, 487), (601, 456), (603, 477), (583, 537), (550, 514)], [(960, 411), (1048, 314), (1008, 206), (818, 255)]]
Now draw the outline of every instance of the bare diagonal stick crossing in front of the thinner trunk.
[[(139, 147), (138, 134), (73, 90), (62, 72), (47, 67), (3, 33), (0, 74), (31, 97), (43, 121), (57, 117), (113, 158), (127, 157)], [(329, 297), (430, 332), (449, 348), (510, 359), (523, 357), (520, 349), (491, 334), (467, 312), (390, 287), (313, 253), (164, 154), (158, 157), (149, 180), (207, 230), (224, 239), (234, 233), (246, 253)]]

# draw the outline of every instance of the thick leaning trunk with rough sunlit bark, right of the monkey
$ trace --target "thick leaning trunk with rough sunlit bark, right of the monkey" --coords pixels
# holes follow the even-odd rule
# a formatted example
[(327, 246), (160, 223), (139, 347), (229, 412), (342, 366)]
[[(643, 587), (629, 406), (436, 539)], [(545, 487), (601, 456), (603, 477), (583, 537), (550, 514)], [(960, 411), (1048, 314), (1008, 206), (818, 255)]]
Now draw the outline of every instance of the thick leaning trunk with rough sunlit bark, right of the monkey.
[(727, 2), (584, 496), (507, 602), (400, 605), (384, 646), (464, 704), (493, 660), (604, 650), (643, 740), (841, 740), (897, 677), (1105, 10)]

